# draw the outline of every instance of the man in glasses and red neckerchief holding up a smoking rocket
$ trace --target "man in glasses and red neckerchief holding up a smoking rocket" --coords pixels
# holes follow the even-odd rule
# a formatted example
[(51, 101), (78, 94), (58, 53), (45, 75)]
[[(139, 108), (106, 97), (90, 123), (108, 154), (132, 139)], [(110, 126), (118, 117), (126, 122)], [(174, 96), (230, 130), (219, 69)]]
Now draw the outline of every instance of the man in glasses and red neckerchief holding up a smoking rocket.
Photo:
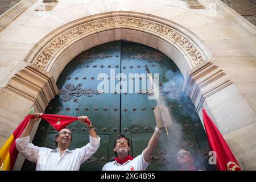
[(160, 133), (163, 129), (163, 127), (155, 127), (155, 132), (150, 138), (148, 146), (142, 151), (141, 155), (134, 159), (129, 155), (129, 139), (123, 134), (118, 135), (117, 138), (115, 138), (113, 146), (113, 151), (117, 157), (113, 162), (106, 163), (102, 168), (102, 171), (145, 171), (148, 164), (150, 164), (156, 146), (158, 146)]

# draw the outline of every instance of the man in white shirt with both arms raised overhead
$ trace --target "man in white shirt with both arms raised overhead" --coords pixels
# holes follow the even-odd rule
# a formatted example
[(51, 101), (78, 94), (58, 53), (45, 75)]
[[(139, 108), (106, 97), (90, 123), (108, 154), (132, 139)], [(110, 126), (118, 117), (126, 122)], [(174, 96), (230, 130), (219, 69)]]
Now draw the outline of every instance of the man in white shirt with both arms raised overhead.
[(100, 146), (100, 138), (97, 136), (92, 125), (85, 122), (86, 116), (80, 116), (79, 121), (89, 128), (90, 142), (86, 146), (68, 150), (71, 143), (72, 134), (68, 129), (60, 130), (55, 136), (57, 148), (37, 147), (29, 143), (30, 133), (39, 120), (42, 113), (34, 113), (34, 119), (30, 119), (28, 125), (18, 139), (16, 139), (16, 148), (26, 159), (36, 163), (36, 171), (78, 171), (81, 164), (92, 156)]

